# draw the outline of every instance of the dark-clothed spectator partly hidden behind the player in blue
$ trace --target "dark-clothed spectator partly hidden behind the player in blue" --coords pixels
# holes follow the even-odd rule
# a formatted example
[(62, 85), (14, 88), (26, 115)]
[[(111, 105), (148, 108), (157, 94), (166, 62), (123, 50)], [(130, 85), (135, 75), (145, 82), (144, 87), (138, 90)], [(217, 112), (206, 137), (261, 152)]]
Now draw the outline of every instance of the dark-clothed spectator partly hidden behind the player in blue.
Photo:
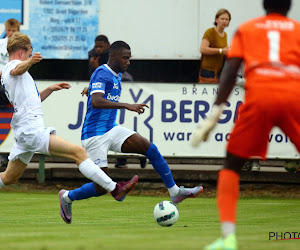
[[(102, 64), (106, 64), (109, 57), (109, 48), (110, 42), (105, 35), (99, 35), (95, 38), (95, 45), (92, 50), (89, 51), (89, 77), (92, 76), (96, 68), (101, 66)], [(132, 82), (133, 77), (126, 71), (122, 75), (122, 81)], [(148, 164), (146, 158), (140, 159), (141, 168), (145, 168)], [(128, 168), (127, 159), (126, 158), (117, 158), (117, 162), (115, 164), (116, 168)]]

